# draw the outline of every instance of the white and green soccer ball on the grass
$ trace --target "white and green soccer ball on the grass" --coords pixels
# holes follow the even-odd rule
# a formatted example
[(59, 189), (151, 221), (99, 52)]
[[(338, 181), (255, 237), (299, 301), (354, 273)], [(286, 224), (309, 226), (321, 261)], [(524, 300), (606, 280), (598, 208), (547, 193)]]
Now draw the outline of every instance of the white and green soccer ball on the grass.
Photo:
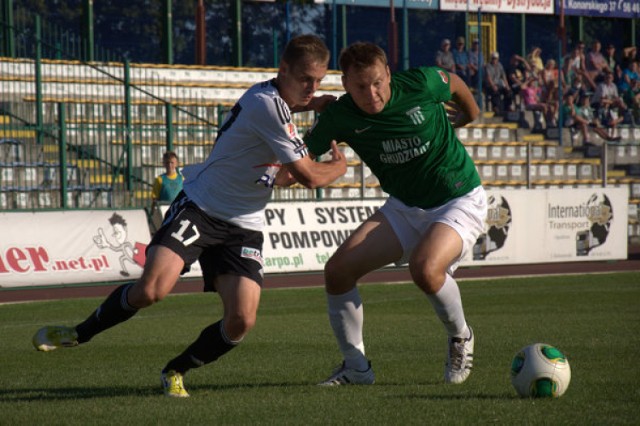
[(566, 392), (570, 381), (567, 357), (546, 343), (522, 348), (511, 362), (511, 383), (523, 398), (557, 398)]

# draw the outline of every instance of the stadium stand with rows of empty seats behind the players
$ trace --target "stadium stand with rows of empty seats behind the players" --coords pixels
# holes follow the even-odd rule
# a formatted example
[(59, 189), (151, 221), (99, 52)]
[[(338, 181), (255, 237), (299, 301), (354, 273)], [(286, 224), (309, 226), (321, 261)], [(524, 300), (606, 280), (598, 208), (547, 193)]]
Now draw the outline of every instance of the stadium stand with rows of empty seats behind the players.
[[(131, 64), (127, 75), (124, 64), (43, 60), (38, 83), (35, 66), (0, 58), (2, 209), (148, 207), (164, 150), (175, 150), (184, 164), (203, 161), (235, 99), (276, 71)], [(320, 93), (342, 93), (338, 73), (328, 75)], [(314, 117), (296, 120), (304, 132)], [(623, 126), (619, 134), (617, 143), (561, 146), (491, 114), (457, 129), (488, 188), (628, 186), (629, 235), (638, 237), (640, 128)], [(321, 190), (279, 188), (274, 199), (384, 197), (366, 165), (342, 149), (349, 167), (339, 181)]]

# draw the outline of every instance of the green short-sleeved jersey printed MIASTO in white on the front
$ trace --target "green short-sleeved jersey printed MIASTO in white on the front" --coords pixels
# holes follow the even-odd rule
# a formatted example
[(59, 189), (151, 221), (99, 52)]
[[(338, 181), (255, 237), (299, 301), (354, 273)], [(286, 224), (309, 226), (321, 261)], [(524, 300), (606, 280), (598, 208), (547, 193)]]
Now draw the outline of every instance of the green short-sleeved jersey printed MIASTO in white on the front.
[(437, 207), (481, 184), (448, 120), (443, 102), (450, 99), (449, 74), (440, 68), (394, 73), (391, 99), (380, 113), (366, 114), (343, 95), (304, 140), (315, 155), (334, 139), (346, 142), (386, 193), (411, 207)]

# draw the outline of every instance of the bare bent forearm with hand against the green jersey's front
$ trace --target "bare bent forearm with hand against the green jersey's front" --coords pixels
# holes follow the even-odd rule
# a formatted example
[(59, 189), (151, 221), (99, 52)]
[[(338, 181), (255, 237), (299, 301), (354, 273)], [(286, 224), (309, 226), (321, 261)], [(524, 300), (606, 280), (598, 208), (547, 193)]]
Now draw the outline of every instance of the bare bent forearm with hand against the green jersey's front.
[[(283, 165), (286, 172), (290, 173), (296, 181), (307, 188), (320, 188), (327, 186), (347, 171), (347, 159), (338, 148), (336, 141), (331, 142), (331, 159), (316, 162), (306, 156), (300, 160)], [(284, 178), (285, 170), (281, 177)], [(278, 173), (279, 175), (281, 173)], [(276, 180), (276, 184), (278, 181)]]

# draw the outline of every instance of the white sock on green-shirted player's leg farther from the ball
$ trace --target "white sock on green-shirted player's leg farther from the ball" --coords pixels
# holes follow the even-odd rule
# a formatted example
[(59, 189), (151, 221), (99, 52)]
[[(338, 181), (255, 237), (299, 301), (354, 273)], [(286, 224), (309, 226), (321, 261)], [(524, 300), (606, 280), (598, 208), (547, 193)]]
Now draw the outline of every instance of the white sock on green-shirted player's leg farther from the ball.
[(338, 295), (327, 293), (327, 302), (329, 322), (344, 356), (345, 366), (361, 371), (367, 370), (369, 361), (364, 356), (362, 339), (364, 313), (358, 288), (354, 287)]

